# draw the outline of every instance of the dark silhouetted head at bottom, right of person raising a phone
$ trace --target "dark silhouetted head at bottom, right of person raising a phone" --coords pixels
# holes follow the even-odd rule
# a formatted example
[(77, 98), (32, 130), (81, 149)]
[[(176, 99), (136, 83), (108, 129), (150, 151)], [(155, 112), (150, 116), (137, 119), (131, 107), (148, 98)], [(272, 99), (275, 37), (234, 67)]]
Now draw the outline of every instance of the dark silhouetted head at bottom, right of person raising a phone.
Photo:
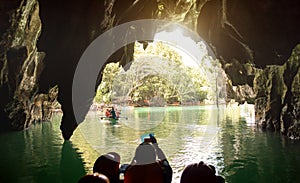
[(188, 165), (181, 174), (180, 183), (218, 183), (215, 169), (202, 161)]

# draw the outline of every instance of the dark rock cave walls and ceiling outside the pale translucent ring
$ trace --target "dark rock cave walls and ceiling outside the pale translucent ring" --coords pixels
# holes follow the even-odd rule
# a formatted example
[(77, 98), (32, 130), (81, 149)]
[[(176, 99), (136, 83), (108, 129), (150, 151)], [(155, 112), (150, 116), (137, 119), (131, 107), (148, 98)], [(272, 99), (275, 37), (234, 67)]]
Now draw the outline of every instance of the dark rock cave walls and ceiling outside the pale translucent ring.
[[(104, 31), (149, 18), (198, 32), (222, 63), (228, 97), (255, 104), (262, 128), (300, 137), (297, 0), (1, 0), (0, 130), (48, 120), (59, 101), (69, 139), (78, 125), (71, 97), (82, 53)], [(107, 62), (126, 65), (132, 54), (128, 45)]]

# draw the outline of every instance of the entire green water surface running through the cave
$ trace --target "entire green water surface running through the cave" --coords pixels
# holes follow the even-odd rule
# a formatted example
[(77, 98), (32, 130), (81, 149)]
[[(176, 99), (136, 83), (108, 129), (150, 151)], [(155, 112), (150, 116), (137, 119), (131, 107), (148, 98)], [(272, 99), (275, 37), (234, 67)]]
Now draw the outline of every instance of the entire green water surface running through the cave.
[(153, 132), (179, 182), (183, 168), (205, 161), (226, 182), (300, 182), (300, 143), (262, 132), (253, 108), (166, 107), (123, 109), (118, 123), (90, 112), (70, 141), (62, 139), (61, 115), (28, 130), (0, 135), (0, 182), (76, 183), (94, 160), (110, 151), (130, 162), (140, 136)]

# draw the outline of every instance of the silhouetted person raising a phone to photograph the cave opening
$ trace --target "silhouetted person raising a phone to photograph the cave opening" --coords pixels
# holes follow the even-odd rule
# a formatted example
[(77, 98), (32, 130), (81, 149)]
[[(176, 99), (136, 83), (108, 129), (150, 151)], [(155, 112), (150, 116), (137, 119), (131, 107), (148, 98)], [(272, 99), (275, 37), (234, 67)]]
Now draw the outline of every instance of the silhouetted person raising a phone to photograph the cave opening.
[(127, 168), (124, 183), (171, 183), (172, 168), (158, 147), (154, 136), (151, 142), (143, 142)]

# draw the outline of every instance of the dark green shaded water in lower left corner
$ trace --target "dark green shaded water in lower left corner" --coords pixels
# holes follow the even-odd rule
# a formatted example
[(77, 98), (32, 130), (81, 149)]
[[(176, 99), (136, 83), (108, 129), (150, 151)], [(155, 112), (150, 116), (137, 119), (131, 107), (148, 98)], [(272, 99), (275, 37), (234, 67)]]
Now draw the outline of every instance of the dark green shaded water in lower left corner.
[(0, 182), (71, 183), (86, 173), (77, 149), (62, 139), (59, 119), (0, 135)]

